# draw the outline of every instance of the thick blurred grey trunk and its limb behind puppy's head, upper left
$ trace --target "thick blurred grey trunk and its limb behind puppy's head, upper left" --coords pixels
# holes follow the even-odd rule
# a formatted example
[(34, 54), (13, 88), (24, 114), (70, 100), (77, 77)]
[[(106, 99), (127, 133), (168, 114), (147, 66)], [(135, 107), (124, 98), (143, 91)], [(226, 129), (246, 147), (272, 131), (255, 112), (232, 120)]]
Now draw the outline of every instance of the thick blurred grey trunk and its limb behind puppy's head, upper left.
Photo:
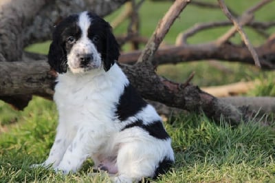
[(54, 24), (73, 12), (109, 14), (127, 0), (1, 0), (0, 61), (20, 61), (23, 47), (51, 39)]

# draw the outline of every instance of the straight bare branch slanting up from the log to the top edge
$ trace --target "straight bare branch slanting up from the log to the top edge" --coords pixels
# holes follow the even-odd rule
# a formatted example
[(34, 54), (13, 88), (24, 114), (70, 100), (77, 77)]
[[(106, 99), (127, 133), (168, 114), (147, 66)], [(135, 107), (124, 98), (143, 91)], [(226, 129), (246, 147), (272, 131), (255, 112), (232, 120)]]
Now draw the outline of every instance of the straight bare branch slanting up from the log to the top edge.
[(147, 62), (151, 63), (155, 51), (159, 47), (159, 44), (164, 39), (164, 36), (170, 29), (175, 19), (179, 16), (180, 12), (187, 6), (190, 0), (176, 0), (161, 21), (159, 21), (155, 32), (146, 44), (145, 49), (137, 60), (137, 63)]

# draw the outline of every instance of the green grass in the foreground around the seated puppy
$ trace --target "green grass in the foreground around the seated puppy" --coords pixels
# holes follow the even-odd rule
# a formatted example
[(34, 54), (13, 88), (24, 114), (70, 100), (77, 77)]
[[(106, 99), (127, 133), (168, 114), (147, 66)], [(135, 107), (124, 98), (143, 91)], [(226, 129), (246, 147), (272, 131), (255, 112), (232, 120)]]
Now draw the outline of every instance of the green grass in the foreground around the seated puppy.
[[(56, 128), (53, 103), (35, 98), (15, 124), (0, 138), (0, 182), (89, 182), (94, 180), (87, 163), (80, 173), (56, 175), (30, 164), (47, 158)], [(203, 115), (182, 114), (166, 122), (173, 139), (176, 163), (157, 182), (245, 182), (275, 181), (275, 123), (259, 122), (230, 127), (216, 124)], [(96, 175), (98, 180), (109, 180)]]

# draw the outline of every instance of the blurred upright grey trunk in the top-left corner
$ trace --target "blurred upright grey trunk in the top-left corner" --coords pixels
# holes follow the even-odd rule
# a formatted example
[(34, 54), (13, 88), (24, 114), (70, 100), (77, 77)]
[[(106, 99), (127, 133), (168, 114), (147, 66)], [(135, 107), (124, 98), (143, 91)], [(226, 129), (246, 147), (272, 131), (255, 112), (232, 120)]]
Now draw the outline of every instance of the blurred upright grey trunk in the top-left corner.
[(0, 1), (0, 61), (17, 61), (22, 56), (23, 31), (45, 5), (42, 0)]

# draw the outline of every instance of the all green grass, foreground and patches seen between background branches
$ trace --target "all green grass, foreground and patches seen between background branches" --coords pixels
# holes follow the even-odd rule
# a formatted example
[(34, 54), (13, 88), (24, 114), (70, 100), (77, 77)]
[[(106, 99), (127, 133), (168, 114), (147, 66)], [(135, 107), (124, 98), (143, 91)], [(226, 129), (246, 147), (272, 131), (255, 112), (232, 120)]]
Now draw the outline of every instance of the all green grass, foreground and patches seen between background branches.
[[(253, 1), (226, 1), (236, 12), (245, 10)], [(170, 3), (146, 1), (141, 9), (141, 34), (149, 36), (157, 21), (168, 10)], [(154, 11), (152, 11), (154, 7)], [(256, 19), (272, 20), (275, 2), (256, 14)], [(263, 13), (265, 12), (265, 13)], [(111, 21), (115, 12), (107, 17)], [(150, 17), (150, 19), (148, 19)], [(206, 10), (188, 6), (168, 32), (166, 43), (173, 43), (177, 34), (197, 22), (225, 19), (219, 10)], [(114, 30), (122, 34), (126, 23)], [(216, 39), (227, 28), (199, 33), (188, 40), (202, 43)], [(251, 30), (248, 36), (252, 43), (263, 43), (263, 38)], [(234, 38), (238, 41), (238, 36)], [(47, 53), (49, 41), (28, 47), (33, 52)], [(185, 80), (195, 71), (195, 85), (221, 85), (239, 80), (261, 80), (261, 85), (250, 96), (275, 96), (274, 72), (263, 72), (253, 66), (238, 63), (221, 63), (230, 69), (227, 74), (206, 61), (164, 65), (157, 72), (177, 81)], [(176, 162), (168, 173), (156, 182), (275, 182), (275, 122), (274, 116), (258, 116), (269, 120), (263, 126), (258, 119), (241, 122), (230, 127), (221, 120), (214, 122), (203, 114), (184, 113), (168, 116), (166, 129), (173, 140)], [(52, 170), (30, 169), (30, 164), (43, 162), (54, 141), (58, 114), (52, 101), (34, 97), (24, 111), (14, 111), (0, 102), (0, 182), (109, 182), (107, 174), (91, 175), (93, 162), (85, 162), (79, 173), (58, 175)]]

